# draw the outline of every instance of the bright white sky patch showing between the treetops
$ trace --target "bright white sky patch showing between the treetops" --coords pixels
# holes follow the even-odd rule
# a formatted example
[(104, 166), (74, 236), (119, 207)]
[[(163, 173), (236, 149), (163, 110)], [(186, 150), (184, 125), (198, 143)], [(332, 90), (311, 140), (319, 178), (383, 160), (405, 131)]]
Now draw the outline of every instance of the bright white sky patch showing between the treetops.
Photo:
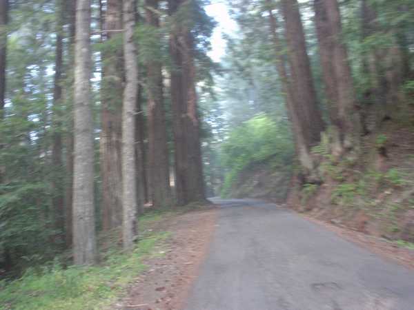
[(208, 56), (213, 61), (219, 62), (221, 57), (226, 54), (226, 41), (222, 36), (224, 33), (234, 34), (237, 32), (237, 23), (231, 19), (228, 8), (223, 1), (213, 0), (205, 9), (207, 14), (218, 23), (211, 37), (212, 50), (208, 53)]

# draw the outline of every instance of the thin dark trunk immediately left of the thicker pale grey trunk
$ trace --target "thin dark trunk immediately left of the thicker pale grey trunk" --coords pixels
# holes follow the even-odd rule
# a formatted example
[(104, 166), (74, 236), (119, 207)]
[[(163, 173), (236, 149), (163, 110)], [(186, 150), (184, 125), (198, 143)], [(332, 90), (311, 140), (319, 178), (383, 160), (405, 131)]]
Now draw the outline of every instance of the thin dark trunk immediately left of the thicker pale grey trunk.
[[(69, 21), (69, 64), (74, 63), (74, 56), (75, 56), (75, 21), (76, 21), (76, 2), (77, 0), (70, 0), (66, 1), (68, 7), (68, 21)], [(66, 78), (70, 78), (70, 81), (73, 78), (73, 71), (68, 65), (68, 69), (66, 72), (70, 72), (66, 76)], [(67, 96), (70, 92), (66, 92)], [(68, 96), (66, 102), (66, 113), (70, 115), (69, 121), (69, 130), (66, 132), (65, 137), (65, 145), (66, 145), (66, 194), (65, 194), (65, 222), (66, 222), (66, 247), (72, 247), (72, 229), (73, 229), (73, 221), (72, 221), (72, 204), (73, 204), (73, 148), (74, 148), (74, 141), (73, 141), (73, 108), (72, 105), (72, 96)]]

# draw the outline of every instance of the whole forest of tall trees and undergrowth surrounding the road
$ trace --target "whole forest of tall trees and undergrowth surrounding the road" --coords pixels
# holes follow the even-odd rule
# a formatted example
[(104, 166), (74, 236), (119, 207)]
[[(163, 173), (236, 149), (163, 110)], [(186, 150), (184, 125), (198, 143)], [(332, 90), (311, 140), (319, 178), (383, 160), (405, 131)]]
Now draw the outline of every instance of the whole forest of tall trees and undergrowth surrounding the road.
[(219, 2), (0, 0), (0, 303), (213, 196), (412, 247), (414, 1)]

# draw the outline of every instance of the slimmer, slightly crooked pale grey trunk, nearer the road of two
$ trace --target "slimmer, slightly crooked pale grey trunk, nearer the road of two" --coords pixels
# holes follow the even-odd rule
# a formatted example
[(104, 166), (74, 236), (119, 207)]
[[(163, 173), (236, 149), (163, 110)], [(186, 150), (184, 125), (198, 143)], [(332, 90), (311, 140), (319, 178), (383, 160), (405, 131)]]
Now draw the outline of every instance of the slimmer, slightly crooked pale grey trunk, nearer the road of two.
[(138, 64), (134, 42), (135, 1), (124, 0), (124, 59), (126, 86), (122, 112), (122, 197), (124, 249), (131, 249), (137, 236), (137, 182), (135, 163), (135, 106), (137, 104)]

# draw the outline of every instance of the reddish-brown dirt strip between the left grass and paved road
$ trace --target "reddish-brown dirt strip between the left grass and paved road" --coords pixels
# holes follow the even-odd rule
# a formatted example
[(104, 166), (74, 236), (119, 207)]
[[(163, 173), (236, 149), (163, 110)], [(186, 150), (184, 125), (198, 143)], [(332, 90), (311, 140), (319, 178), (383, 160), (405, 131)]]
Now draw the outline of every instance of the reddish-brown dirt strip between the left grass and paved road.
[(148, 269), (130, 285), (126, 297), (116, 302), (116, 310), (181, 310), (188, 291), (197, 278), (215, 230), (217, 208), (174, 215), (155, 227), (171, 236), (144, 263)]

